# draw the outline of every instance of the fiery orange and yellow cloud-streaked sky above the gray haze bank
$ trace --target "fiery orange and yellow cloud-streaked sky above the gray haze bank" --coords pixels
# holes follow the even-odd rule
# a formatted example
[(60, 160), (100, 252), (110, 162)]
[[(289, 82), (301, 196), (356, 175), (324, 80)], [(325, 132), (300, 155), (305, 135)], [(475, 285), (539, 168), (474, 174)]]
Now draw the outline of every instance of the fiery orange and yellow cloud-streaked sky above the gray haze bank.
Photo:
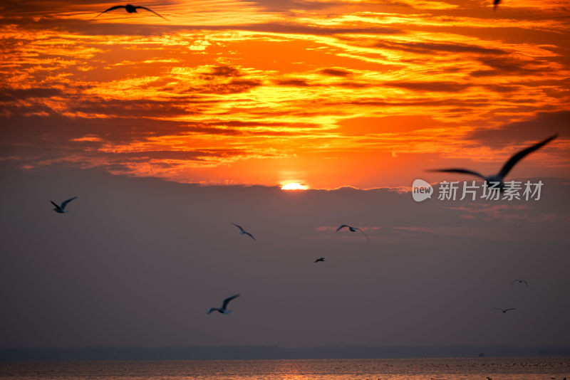
[[(204, 184), (568, 176), (569, 2), (4, 1), (2, 155)], [(439, 179), (432, 176), (431, 179)]]

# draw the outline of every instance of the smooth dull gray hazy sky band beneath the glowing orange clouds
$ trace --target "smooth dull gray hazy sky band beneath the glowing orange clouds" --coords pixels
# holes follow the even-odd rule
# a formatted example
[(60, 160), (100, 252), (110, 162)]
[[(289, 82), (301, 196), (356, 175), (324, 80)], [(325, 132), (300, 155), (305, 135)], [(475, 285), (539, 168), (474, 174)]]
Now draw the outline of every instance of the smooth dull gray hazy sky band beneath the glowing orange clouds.
[[(538, 202), (418, 204), (0, 170), (0, 348), (570, 342), (570, 184), (556, 179)], [(232, 314), (206, 315), (237, 292)]]

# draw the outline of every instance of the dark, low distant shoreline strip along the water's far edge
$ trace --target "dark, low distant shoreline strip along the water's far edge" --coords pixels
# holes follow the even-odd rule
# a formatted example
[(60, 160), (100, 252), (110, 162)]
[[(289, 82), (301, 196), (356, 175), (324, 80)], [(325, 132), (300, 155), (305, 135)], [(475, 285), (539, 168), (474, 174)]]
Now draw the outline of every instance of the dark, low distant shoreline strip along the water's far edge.
[[(483, 357), (480, 357), (480, 354)], [(260, 359), (419, 359), (490, 357), (570, 357), (570, 346), (279, 346), (83, 347), (0, 349), (0, 361), (160, 361)]]

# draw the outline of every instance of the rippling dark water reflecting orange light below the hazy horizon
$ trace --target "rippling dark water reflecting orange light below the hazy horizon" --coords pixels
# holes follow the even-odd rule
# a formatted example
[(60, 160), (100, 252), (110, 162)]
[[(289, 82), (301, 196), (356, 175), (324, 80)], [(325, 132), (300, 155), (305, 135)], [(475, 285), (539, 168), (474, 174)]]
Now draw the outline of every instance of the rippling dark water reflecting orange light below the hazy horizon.
[(0, 363), (1, 379), (570, 380), (570, 358)]

